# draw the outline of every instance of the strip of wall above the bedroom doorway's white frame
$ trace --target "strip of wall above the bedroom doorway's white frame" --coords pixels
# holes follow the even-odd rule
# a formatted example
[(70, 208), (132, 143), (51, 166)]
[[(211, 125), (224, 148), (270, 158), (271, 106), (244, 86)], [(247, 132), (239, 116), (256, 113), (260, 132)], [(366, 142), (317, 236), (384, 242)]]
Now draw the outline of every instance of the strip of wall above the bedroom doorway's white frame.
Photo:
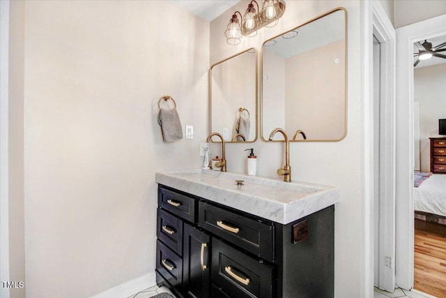
[(443, 0), (397, 0), (394, 1), (394, 27), (399, 28), (446, 13)]

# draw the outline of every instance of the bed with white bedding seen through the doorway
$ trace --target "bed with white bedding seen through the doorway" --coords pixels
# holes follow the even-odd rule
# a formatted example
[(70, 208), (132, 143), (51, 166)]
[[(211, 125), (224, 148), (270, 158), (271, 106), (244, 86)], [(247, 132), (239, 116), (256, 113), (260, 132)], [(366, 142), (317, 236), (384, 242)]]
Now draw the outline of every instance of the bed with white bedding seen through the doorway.
[(446, 224), (446, 174), (415, 174), (417, 178), (424, 174), (422, 182), (414, 187), (415, 218)]

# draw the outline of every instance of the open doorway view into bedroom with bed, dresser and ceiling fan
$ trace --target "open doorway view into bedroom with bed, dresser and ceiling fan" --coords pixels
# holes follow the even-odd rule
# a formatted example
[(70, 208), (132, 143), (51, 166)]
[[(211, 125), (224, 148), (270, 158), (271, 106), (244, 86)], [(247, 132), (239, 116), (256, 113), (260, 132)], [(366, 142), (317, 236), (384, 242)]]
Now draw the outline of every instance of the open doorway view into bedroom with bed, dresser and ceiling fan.
[[(424, 46), (441, 50), (446, 47), (446, 36), (419, 40), (413, 45), (414, 53), (422, 52)], [(414, 237), (414, 285), (413, 288), (436, 297), (446, 297), (446, 175), (431, 172), (431, 142), (429, 137), (438, 135), (438, 119), (446, 118), (446, 59), (431, 57), (417, 60), (413, 73), (415, 177), (424, 181), (414, 188), (415, 233)], [(438, 142), (440, 142), (438, 140)], [(436, 147), (433, 147), (436, 148)], [(433, 149), (444, 161), (445, 149)], [(418, 152), (417, 152), (418, 151)], [(436, 167), (445, 167), (443, 163)], [(419, 181), (415, 179), (415, 182)], [(439, 184), (438, 184), (439, 183)], [(436, 187), (437, 186), (437, 187)], [(443, 186), (443, 189), (441, 188)], [(423, 213), (420, 213), (423, 212)]]

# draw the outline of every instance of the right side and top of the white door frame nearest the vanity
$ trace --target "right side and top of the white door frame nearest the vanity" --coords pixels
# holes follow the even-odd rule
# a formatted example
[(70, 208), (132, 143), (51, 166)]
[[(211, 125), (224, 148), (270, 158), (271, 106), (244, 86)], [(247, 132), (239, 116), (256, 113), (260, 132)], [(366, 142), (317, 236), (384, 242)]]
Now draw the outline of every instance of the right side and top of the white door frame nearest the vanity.
[[(395, 68), (397, 37), (381, 5), (373, 5), (373, 34), (380, 43), (380, 190), (378, 214), (378, 287), (387, 292), (395, 289)], [(389, 260), (386, 262), (385, 258)]]

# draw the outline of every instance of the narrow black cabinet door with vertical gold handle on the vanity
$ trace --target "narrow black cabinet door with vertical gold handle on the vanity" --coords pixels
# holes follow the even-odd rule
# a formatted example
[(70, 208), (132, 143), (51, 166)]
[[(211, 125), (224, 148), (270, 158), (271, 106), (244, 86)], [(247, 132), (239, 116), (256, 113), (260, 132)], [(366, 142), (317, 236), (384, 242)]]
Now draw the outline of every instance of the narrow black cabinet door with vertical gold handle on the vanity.
[(186, 297), (208, 298), (210, 236), (184, 224), (183, 288)]

